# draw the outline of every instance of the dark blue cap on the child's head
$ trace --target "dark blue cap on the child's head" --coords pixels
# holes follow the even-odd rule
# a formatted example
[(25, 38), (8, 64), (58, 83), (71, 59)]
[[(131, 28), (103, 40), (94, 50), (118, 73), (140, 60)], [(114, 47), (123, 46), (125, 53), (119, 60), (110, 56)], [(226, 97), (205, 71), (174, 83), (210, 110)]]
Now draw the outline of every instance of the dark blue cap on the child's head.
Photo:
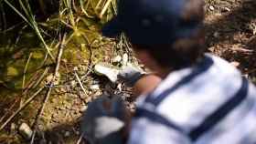
[(119, 0), (118, 15), (102, 28), (103, 36), (122, 32), (133, 44), (172, 44), (194, 34), (201, 22), (182, 19), (187, 0)]

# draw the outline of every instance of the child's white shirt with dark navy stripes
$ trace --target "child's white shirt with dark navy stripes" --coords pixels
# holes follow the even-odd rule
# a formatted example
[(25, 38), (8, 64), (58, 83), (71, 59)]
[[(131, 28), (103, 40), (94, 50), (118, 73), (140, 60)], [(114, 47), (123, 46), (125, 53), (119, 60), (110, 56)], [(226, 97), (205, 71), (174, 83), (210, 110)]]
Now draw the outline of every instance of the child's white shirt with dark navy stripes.
[(206, 54), (137, 99), (129, 144), (255, 144), (256, 88)]

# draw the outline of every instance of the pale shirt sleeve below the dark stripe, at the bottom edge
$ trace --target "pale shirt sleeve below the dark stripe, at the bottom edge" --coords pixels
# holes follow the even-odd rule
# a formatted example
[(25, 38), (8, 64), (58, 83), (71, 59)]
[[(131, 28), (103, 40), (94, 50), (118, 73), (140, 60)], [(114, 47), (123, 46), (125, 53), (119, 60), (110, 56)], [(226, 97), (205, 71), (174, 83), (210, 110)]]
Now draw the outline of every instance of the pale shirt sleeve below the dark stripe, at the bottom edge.
[(190, 144), (176, 129), (167, 128), (146, 118), (133, 120), (128, 144)]

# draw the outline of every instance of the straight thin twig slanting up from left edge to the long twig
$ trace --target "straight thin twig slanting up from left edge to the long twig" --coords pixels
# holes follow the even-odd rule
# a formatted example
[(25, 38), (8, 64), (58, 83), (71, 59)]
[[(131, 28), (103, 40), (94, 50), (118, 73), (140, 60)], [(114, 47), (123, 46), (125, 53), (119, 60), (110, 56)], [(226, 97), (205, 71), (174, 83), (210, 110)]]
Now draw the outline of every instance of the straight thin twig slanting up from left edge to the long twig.
[(28, 98), (27, 101), (20, 107), (16, 110), (16, 112), (10, 117), (8, 118), (5, 123), (0, 127), (0, 130), (4, 129), (5, 126), (13, 119), (16, 117), (16, 115), (21, 111), (23, 110), (24, 108), (27, 107), (27, 105), (34, 99), (37, 97), (37, 95), (44, 89), (44, 87), (40, 87), (37, 92), (31, 97), (31, 98)]

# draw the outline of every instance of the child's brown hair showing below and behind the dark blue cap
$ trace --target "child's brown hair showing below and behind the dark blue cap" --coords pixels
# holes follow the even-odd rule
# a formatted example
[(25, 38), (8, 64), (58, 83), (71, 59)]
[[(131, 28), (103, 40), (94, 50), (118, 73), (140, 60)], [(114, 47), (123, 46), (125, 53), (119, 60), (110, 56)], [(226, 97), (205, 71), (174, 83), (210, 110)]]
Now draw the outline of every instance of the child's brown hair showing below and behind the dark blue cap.
[[(182, 23), (201, 23), (204, 20), (204, 1), (187, 0), (182, 14)], [(192, 36), (179, 38), (171, 45), (144, 46), (133, 44), (136, 48), (145, 49), (155, 58), (161, 67), (178, 69), (197, 63), (205, 51), (203, 26), (199, 26)]]

